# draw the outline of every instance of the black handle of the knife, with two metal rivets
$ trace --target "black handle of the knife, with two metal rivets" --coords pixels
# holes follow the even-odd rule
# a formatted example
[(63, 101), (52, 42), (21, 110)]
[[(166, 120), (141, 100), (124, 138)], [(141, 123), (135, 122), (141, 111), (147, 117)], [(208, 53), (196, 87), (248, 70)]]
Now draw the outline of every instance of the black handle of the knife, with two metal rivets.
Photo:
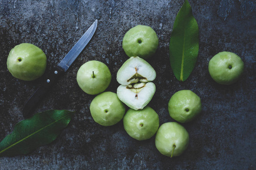
[(60, 67), (55, 67), (50, 73), (46, 76), (46, 80), (42, 85), (34, 92), (34, 94), (28, 99), (27, 103), (23, 108), (23, 117), (28, 118), (32, 115), (36, 104), (43, 99), (44, 95), (48, 92), (49, 88), (56, 82), (56, 80), (63, 75), (64, 71)]

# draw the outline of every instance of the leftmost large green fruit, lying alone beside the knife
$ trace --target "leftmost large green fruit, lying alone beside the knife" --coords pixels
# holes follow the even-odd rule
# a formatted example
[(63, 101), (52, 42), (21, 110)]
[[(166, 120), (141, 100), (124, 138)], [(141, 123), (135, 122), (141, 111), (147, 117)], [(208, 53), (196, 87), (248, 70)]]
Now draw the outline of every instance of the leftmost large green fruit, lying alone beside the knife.
[(38, 79), (46, 70), (46, 54), (33, 44), (22, 43), (11, 49), (7, 69), (15, 78), (25, 81)]

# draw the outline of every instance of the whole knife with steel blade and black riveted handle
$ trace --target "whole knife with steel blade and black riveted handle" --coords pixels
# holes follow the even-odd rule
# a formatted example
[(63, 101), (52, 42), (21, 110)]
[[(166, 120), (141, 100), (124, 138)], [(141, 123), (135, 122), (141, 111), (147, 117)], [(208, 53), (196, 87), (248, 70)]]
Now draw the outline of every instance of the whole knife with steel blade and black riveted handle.
[(69, 66), (75, 61), (75, 59), (79, 56), (85, 46), (88, 44), (90, 39), (92, 39), (94, 32), (97, 28), (98, 20), (90, 26), (90, 28), (84, 33), (84, 35), (80, 38), (79, 41), (76, 42), (75, 46), (68, 52), (68, 54), (60, 61), (60, 63), (50, 71), (49, 75), (47, 75), (46, 80), (42, 83), (34, 94), (28, 99), (23, 108), (23, 117), (28, 118), (32, 115), (36, 104), (39, 103), (40, 100), (44, 97), (50, 87), (56, 80), (68, 70)]

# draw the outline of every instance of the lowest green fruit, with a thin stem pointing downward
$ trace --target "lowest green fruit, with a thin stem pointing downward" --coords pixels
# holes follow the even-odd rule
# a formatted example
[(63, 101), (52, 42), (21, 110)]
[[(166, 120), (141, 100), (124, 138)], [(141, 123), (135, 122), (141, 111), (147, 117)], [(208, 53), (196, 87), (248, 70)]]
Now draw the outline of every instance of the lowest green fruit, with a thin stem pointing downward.
[(187, 149), (188, 131), (177, 122), (167, 122), (160, 126), (155, 136), (155, 146), (166, 156), (180, 156)]

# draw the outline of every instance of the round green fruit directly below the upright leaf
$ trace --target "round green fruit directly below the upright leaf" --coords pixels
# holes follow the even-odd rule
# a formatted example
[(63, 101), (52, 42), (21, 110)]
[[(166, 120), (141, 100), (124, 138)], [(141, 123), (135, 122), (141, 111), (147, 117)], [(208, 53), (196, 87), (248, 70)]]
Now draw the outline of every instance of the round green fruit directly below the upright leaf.
[(201, 110), (200, 97), (190, 90), (177, 91), (168, 103), (170, 116), (181, 123), (194, 120)]

